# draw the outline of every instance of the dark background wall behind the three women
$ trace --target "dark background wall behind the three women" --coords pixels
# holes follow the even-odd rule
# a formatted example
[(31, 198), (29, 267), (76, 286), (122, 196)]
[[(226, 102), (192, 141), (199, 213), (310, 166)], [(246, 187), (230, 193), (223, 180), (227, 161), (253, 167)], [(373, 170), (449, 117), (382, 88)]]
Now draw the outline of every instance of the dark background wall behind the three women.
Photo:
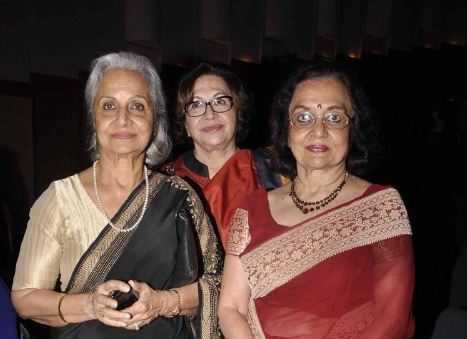
[(169, 104), (188, 68), (230, 65), (256, 101), (248, 147), (268, 142), (271, 98), (290, 69), (337, 59), (359, 74), (382, 122), (386, 158), (372, 179), (407, 204), (417, 337), (428, 337), (452, 304), (466, 234), (466, 32), (462, 0), (0, 0), (2, 276), (11, 280), (35, 198), (90, 165), (83, 88), (93, 58), (148, 56)]

